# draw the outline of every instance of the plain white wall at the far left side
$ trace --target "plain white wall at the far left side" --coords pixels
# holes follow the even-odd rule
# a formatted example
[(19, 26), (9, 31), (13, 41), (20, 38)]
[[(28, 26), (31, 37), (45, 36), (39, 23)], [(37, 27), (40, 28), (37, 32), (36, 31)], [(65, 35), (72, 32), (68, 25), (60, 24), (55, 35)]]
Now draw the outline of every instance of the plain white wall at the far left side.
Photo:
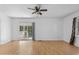
[(0, 12), (0, 44), (11, 41), (11, 22), (5, 13)]

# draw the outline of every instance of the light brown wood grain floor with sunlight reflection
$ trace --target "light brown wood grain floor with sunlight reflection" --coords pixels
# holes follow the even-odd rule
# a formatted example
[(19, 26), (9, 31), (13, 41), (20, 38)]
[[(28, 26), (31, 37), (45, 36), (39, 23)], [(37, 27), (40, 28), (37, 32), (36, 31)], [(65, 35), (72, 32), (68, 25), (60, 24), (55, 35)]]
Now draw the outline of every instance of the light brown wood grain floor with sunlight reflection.
[(79, 48), (64, 41), (12, 41), (0, 45), (1, 55), (78, 55)]

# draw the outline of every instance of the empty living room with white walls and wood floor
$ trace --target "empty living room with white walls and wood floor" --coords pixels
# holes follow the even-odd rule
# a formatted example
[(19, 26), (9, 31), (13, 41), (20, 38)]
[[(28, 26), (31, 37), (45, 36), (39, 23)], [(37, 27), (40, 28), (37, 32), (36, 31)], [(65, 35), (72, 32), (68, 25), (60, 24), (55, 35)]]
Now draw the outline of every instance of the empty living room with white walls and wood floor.
[[(79, 4), (1, 4), (0, 8), (0, 54), (79, 54)], [(75, 17), (76, 39), (71, 45)]]

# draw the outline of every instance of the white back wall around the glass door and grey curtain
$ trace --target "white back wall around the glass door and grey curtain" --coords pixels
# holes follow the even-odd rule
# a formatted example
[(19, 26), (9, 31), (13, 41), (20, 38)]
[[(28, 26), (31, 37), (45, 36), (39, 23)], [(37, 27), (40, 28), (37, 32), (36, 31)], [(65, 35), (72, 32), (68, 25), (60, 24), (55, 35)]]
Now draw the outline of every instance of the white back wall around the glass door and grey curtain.
[(20, 22), (35, 22), (35, 39), (36, 40), (61, 40), (62, 39), (62, 20), (53, 18), (14, 18), (13, 24), (13, 39), (19, 39), (19, 33), (17, 29)]

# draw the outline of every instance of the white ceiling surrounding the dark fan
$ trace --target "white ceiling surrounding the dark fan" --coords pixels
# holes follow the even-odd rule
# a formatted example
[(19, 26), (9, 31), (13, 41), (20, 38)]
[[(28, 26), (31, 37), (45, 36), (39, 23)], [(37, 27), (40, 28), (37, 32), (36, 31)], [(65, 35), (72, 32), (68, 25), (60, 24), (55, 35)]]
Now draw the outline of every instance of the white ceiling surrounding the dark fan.
[[(34, 6), (34, 4), (1, 4), (0, 11), (14, 17), (33, 17), (35, 16), (31, 14), (33, 11), (27, 8), (34, 8)], [(61, 18), (78, 12), (79, 4), (42, 4), (41, 8), (48, 9), (47, 12), (43, 12), (42, 16)]]

